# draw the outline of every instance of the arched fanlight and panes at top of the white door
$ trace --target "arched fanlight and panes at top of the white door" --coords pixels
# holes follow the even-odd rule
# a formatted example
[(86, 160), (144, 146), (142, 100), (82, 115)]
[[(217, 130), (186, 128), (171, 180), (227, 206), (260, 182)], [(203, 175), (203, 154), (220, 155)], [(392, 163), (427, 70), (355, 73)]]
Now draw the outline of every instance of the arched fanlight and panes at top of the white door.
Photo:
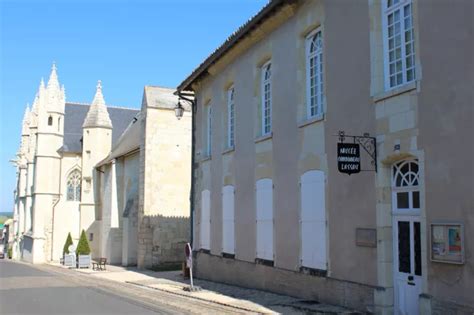
[(419, 168), (417, 160), (396, 163), (392, 170), (392, 190), (396, 210), (420, 209)]

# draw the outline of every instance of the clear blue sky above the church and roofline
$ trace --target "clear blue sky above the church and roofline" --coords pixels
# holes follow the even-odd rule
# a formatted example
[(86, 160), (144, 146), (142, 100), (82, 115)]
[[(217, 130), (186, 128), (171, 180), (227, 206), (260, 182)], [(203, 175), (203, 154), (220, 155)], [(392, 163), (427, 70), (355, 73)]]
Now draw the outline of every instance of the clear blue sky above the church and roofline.
[(56, 61), (66, 101), (139, 107), (176, 87), (267, 0), (0, 0), (0, 212), (11, 211), (21, 120)]

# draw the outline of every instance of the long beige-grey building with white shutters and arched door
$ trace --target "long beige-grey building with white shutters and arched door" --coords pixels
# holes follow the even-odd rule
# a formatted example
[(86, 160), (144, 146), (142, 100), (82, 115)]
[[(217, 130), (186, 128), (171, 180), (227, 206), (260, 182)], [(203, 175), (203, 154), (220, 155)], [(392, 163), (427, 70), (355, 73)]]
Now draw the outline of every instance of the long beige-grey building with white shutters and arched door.
[[(473, 312), (472, 6), (273, 0), (204, 60), (177, 88), (196, 96), (197, 276)], [(367, 171), (338, 171), (342, 140)]]

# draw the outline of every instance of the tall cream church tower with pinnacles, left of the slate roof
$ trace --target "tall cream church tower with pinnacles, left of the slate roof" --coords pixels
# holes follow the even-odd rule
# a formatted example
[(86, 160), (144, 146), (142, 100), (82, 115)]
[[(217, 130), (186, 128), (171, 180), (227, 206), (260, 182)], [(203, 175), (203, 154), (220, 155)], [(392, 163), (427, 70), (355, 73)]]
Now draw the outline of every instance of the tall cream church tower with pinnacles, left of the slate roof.
[[(56, 65), (53, 63), (48, 84), (40, 84), (35, 98), (36, 132), (34, 166), (31, 186), (33, 263), (51, 259), (52, 230), (50, 219), (61, 191), (61, 154), (64, 134), (65, 95), (61, 89)], [(30, 133), (31, 134), (31, 133)], [(31, 147), (30, 147), (31, 149)], [(27, 213), (29, 209), (27, 207)], [(27, 217), (28, 218), (28, 217)]]

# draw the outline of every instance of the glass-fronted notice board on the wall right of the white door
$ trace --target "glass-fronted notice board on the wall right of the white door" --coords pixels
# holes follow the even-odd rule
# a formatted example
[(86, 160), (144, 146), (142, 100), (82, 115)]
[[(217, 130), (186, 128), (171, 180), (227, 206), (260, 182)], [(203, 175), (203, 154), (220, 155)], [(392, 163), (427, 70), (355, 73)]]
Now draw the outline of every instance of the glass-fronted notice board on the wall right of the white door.
[(460, 223), (431, 224), (431, 260), (464, 263), (464, 229)]

